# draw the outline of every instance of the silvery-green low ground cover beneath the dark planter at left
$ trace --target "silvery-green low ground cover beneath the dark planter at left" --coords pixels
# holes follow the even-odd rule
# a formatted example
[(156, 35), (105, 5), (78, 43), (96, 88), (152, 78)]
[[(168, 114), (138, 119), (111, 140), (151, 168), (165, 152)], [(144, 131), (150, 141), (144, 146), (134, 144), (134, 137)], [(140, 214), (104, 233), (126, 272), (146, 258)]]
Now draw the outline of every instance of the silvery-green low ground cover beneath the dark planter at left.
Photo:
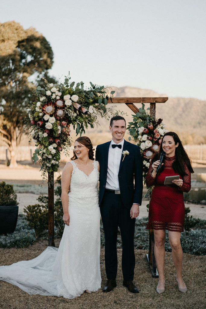
[(28, 226), (25, 215), (19, 214), (14, 233), (0, 235), (0, 248), (24, 248), (35, 240), (35, 231)]

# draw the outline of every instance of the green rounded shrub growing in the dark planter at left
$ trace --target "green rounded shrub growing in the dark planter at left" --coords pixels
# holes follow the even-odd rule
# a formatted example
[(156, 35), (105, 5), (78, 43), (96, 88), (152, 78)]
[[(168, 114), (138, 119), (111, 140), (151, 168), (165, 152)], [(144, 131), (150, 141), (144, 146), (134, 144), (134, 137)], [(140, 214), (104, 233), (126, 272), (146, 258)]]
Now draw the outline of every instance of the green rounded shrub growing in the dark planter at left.
[(13, 185), (2, 181), (0, 183), (0, 206), (15, 206), (18, 204)]

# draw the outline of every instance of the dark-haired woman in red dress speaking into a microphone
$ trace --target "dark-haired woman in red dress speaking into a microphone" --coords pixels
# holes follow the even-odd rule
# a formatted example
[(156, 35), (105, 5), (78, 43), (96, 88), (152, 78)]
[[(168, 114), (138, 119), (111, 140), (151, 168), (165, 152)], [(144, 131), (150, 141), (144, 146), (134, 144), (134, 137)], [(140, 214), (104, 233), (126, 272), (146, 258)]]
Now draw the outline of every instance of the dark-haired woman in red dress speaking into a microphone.
[[(160, 164), (160, 154), (165, 151), (165, 161)], [(180, 244), (183, 232), (185, 206), (183, 192), (191, 188), (191, 173), (194, 173), (190, 159), (174, 132), (167, 132), (162, 138), (159, 154), (154, 155), (146, 176), (146, 185), (154, 185), (149, 203), (149, 222), (147, 229), (154, 230), (154, 254), (159, 273), (157, 292), (165, 291), (164, 258), (165, 230), (168, 230), (172, 258), (176, 270), (176, 280), (180, 292), (186, 293), (187, 287), (182, 278), (183, 251)], [(166, 176), (179, 176), (171, 184), (164, 184)], [(178, 177), (177, 177), (178, 178)]]

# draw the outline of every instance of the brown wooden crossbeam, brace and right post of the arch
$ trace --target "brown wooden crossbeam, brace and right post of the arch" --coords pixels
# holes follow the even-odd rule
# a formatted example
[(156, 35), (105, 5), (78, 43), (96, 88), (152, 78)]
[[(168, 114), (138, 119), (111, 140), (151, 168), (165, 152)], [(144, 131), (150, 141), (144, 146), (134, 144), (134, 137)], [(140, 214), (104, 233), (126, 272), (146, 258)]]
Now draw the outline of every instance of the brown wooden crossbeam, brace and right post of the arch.
[[(132, 112), (139, 112), (139, 109), (134, 105), (134, 103), (150, 103), (150, 115), (155, 117), (156, 114), (156, 103), (165, 103), (168, 100), (167, 97), (151, 97), (151, 98), (111, 98), (108, 103), (124, 103), (126, 104)], [(158, 277), (158, 271), (156, 268), (156, 261), (154, 256), (154, 231), (149, 230), (149, 253), (146, 255), (149, 263), (150, 270), (153, 277)]]

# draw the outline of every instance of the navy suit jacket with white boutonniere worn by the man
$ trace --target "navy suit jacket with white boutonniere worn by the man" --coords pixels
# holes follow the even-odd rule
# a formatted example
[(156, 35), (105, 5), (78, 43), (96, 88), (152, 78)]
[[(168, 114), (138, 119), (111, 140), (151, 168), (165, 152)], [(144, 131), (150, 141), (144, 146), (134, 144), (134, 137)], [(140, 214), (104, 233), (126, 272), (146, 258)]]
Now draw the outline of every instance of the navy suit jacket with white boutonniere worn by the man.
[[(103, 199), (106, 182), (107, 166), (110, 142), (98, 145), (96, 148), (96, 161), (99, 161), (99, 205)], [(129, 142), (124, 141), (122, 151), (128, 150), (129, 155), (122, 155), (119, 168), (120, 196), (124, 206), (131, 209), (133, 203), (141, 205), (142, 201), (142, 157), (140, 148)], [(124, 160), (123, 160), (124, 158)]]

